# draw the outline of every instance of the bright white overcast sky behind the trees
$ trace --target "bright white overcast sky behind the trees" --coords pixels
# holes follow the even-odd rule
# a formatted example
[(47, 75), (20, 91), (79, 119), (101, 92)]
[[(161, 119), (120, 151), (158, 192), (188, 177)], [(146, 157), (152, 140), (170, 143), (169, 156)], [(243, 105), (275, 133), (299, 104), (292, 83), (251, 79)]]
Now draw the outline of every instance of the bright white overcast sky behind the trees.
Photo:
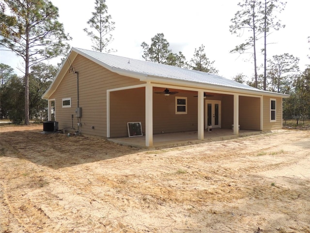
[[(92, 17), (95, 0), (51, 0), (59, 8), (59, 21), (73, 40), (71, 47), (92, 50), (90, 37), (83, 31)], [(250, 54), (230, 53), (235, 46), (243, 43), (247, 37), (237, 37), (229, 32), (231, 19), (240, 8), (240, 0), (106, 0), (108, 13), (115, 22), (112, 32), (111, 54), (132, 59), (142, 58), (142, 42), (151, 44), (151, 38), (164, 33), (174, 53), (182, 51), (189, 61), (202, 44), (218, 75), (232, 79), (244, 74), (248, 80), (254, 74), (254, 65)], [(87, 3), (85, 3), (87, 2)], [(310, 65), (310, 0), (287, 0), (285, 10), (277, 14), (284, 29), (275, 31), (267, 37), (267, 59), (273, 55), (289, 53), (300, 59), (299, 67), (303, 71)], [(263, 64), (263, 40), (258, 42), (258, 66)], [(60, 58), (50, 61), (56, 65)], [(0, 63), (15, 68), (22, 67), (21, 61), (12, 52), (0, 51)], [(23, 69), (23, 68), (22, 68)], [(263, 69), (258, 71), (263, 73)]]

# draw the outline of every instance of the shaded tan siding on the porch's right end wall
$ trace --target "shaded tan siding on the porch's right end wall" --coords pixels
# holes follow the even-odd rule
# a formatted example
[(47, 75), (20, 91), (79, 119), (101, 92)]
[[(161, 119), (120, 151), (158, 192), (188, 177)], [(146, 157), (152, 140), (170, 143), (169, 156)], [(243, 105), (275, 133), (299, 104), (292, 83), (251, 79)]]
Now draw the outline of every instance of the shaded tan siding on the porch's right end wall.
[(261, 99), (239, 96), (239, 125), (241, 130), (260, 130)]

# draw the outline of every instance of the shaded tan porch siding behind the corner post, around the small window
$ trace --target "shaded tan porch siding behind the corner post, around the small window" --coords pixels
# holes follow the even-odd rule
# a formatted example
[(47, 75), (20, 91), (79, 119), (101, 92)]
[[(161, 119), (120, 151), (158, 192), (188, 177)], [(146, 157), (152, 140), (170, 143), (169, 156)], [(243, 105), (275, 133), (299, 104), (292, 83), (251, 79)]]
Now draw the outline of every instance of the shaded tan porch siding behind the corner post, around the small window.
[[(197, 130), (197, 98), (194, 93), (153, 94), (153, 133)], [(187, 97), (187, 114), (175, 114), (175, 97)], [(111, 137), (128, 136), (127, 122), (141, 122), (145, 132), (145, 89), (110, 93)]]

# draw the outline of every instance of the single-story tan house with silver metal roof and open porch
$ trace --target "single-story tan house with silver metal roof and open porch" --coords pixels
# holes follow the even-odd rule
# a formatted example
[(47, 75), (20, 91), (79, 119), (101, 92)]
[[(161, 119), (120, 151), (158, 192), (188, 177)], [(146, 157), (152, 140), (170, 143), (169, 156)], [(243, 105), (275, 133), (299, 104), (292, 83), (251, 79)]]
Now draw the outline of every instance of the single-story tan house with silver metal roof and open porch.
[(203, 139), (210, 126), (280, 129), (287, 97), (215, 74), (78, 48), (42, 96), (49, 120), (55, 106), (60, 129), (115, 138), (128, 136), (128, 122), (140, 122), (146, 147), (157, 133), (197, 131)]

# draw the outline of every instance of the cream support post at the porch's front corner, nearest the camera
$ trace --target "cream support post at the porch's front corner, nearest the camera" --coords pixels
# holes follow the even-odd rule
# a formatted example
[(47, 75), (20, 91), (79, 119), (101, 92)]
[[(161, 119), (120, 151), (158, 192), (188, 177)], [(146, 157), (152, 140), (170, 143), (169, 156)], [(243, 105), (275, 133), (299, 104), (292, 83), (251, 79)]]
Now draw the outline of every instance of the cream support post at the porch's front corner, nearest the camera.
[(153, 85), (145, 86), (145, 146), (153, 146)]

